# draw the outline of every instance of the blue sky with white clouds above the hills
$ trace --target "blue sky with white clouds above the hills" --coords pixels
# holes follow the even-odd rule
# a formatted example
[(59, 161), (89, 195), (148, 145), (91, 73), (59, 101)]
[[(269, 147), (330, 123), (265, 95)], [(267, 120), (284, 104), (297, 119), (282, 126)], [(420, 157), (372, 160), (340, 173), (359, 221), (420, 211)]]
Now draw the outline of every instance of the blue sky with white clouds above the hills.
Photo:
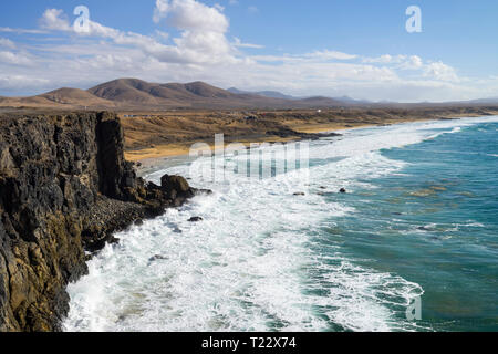
[(371, 101), (498, 97), (497, 18), (496, 0), (6, 0), (0, 95), (136, 77)]

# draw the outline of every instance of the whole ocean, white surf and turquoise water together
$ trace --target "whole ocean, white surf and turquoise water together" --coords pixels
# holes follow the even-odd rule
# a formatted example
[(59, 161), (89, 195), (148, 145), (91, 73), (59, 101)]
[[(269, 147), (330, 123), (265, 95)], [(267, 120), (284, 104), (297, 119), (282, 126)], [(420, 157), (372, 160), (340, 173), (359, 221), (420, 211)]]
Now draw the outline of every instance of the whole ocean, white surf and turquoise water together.
[(270, 150), (258, 178), (236, 154), (148, 175), (214, 194), (116, 235), (64, 329), (498, 330), (498, 117), (345, 131), (305, 164)]

